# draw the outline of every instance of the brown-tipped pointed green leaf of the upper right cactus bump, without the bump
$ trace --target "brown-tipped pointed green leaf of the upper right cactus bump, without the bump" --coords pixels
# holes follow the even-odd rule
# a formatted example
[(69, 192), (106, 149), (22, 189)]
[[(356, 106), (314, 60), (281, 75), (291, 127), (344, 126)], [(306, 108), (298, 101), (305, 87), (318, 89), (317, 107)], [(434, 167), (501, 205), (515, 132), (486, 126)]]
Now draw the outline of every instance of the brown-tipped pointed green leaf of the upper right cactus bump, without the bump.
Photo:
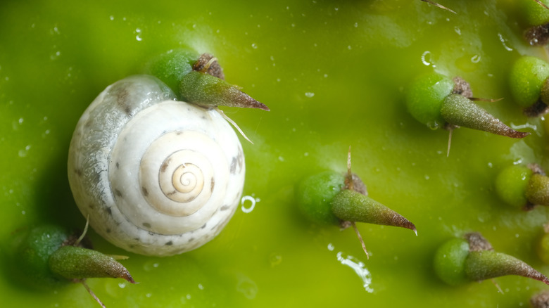
[(508, 127), (473, 103), (469, 98), (459, 94), (450, 94), (444, 99), (441, 115), (450, 124), (487, 131), (500, 136), (524, 138), (530, 134), (529, 132), (515, 131), (515, 129)]

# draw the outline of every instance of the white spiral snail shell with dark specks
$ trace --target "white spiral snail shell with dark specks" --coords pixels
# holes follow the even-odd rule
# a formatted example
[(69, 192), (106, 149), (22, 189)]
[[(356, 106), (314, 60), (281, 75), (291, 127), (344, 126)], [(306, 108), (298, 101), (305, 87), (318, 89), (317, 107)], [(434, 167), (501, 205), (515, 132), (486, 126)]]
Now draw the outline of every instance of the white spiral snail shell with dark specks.
[(72, 136), (68, 177), (103, 238), (141, 255), (193, 250), (229, 222), (244, 153), (215, 110), (175, 101), (156, 77), (127, 77), (89, 105)]

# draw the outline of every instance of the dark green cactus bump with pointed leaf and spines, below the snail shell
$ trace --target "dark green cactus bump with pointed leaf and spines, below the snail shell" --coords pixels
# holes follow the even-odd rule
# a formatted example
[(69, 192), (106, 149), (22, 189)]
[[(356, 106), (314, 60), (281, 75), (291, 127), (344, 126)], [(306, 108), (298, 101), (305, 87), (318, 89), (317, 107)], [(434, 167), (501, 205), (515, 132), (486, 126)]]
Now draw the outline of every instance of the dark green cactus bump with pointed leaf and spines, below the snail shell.
[(94, 300), (105, 305), (86, 283), (87, 278), (122, 278), (135, 283), (120, 264), (121, 256), (103, 255), (92, 250), (91, 243), (62, 226), (42, 225), (15, 236), (12, 245), (13, 274), (25, 284), (38, 289), (56, 288), (68, 283), (82, 283)]

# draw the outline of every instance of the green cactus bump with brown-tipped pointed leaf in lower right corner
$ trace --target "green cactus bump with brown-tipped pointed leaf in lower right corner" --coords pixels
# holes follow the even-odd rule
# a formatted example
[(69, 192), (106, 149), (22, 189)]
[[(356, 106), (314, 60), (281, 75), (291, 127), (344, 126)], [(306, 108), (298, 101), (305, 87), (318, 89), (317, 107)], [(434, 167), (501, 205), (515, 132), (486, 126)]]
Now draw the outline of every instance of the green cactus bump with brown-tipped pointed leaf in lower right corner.
[(549, 285), (549, 279), (521, 260), (493, 250), (480, 233), (453, 238), (436, 250), (434, 270), (448, 285), (460, 285), (506, 275), (532, 278)]

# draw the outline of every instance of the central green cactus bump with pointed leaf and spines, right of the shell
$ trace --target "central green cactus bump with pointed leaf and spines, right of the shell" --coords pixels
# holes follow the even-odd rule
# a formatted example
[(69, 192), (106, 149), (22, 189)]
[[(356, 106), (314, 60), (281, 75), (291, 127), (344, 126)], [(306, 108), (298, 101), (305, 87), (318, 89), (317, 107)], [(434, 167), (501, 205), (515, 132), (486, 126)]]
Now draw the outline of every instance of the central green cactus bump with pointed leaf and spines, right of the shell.
[(342, 229), (353, 226), (366, 256), (364, 240), (355, 222), (400, 226), (414, 231), (408, 219), (368, 196), (366, 185), (351, 172), (351, 147), (347, 155), (347, 173), (324, 171), (305, 177), (296, 189), (297, 205), (310, 222), (320, 225), (339, 225)]

